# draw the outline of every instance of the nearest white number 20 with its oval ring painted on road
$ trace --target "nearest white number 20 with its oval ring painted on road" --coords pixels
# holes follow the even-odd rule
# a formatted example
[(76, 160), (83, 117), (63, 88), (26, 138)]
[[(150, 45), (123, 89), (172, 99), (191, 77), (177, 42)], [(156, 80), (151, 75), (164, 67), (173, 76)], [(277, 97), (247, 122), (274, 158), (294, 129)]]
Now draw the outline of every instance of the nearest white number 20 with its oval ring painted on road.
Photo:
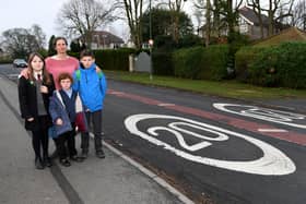
[[(148, 129), (148, 132), (142, 132), (138, 129), (138, 122), (148, 120), (148, 119), (169, 119), (169, 120), (176, 120), (177, 122), (172, 122), (167, 124), (167, 127), (151, 127)], [(150, 113), (142, 113), (142, 115), (133, 115), (128, 117), (125, 120), (125, 125), (128, 129), (128, 131), (137, 136), (140, 136), (141, 139), (144, 139), (149, 141), (150, 143), (153, 143), (157, 146), (163, 146), (165, 149), (173, 152), (177, 156), (180, 156), (185, 159), (200, 163), (203, 165), (209, 165), (213, 167), (224, 168), (228, 170), (235, 170), (235, 171), (242, 171), (247, 173), (255, 173), (255, 175), (264, 175), (264, 176), (283, 176), (289, 175), (295, 171), (296, 167), (294, 163), (281, 151), (273, 147), (272, 145), (262, 142), (260, 140), (239, 134), (233, 131), (228, 131), (219, 127), (214, 127), (211, 124), (198, 122), (195, 120), (175, 117), (175, 116), (166, 116), (166, 115), (150, 115)], [(190, 127), (193, 129), (202, 130), (210, 132), (211, 134), (215, 134), (215, 137), (201, 135), (195, 132), (191, 132), (189, 130), (179, 128), (180, 125)], [(212, 145), (212, 141), (226, 141), (228, 140), (228, 136), (236, 136), (239, 139), (243, 139), (254, 145), (256, 145), (258, 148), (260, 148), (263, 153), (262, 157), (255, 159), (255, 160), (248, 160), (248, 161), (237, 161), (237, 160), (221, 160), (215, 158), (209, 158), (209, 157), (202, 157), (199, 155), (192, 155), (189, 152), (185, 152), (181, 149), (176, 148), (175, 146), (172, 146), (167, 144), (164, 141), (158, 140), (157, 131), (168, 131), (172, 134), (174, 134), (179, 143), (179, 145), (189, 152), (196, 152), (201, 148), (205, 148), (210, 145)], [(190, 136), (195, 136), (198, 139), (202, 139), (203, 141), (193, 145), (188, 145), (181, 133), (188, 134)]]

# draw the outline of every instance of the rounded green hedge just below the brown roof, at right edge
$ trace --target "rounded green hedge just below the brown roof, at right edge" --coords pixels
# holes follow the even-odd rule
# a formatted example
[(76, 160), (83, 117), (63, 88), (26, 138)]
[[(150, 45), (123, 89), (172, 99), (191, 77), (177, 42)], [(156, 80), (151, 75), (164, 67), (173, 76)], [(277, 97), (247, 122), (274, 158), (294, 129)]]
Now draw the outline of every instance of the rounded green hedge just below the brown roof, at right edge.
[(306, 43), (284, 43), (261, 52), (249, 67), (249, 82), (262, 86), (306, 87)]

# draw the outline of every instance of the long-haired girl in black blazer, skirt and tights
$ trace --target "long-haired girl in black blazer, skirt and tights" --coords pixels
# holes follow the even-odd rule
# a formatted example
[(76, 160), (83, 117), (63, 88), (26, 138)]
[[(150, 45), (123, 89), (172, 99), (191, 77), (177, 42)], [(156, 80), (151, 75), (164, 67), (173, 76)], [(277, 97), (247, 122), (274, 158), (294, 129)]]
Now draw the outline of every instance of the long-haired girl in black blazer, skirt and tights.
[[(21, 117), (25, 120), (25, 129), (32, 131), (32, 144), (35, 152), (35, 167), (50, 167), (48, 155), (48, 128), (52, 125), (49, 115), (49, 97), (55, 84), (52, 75), (45, 69), (44, 58), (39, 53), (28, 57), (28, 79), (19, 80), (19, 101)], [(43, 147), (43, 155), (40, 151)]]

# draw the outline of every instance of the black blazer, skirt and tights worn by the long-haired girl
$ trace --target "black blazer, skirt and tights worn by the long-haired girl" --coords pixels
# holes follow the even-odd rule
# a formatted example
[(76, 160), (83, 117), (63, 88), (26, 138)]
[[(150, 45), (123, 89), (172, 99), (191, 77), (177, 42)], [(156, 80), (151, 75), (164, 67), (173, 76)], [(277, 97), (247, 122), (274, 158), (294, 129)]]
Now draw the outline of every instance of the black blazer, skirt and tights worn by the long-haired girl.
[[(35, 163), (47, 161), (48, 158), (48, 128), (52, 125), (49, 115), (49, 97), (51, 96), (55, 84), (50, 75), (50, 84), (46, 83), (46, 79), (42, 79), (42, 74), (34, 74), (35, 79), (19, 79), (19, 101), (21, 117), (25, 119), (25, 129), (32, 131), (32, 143), (35, 152)], [(39, 77), (39, 79), (38, 79)], [(40, 86), (48, 88), (48, 94), (40, 93)], [(34, 118), (33, 121), (27, 119)], [(43, 147), (43, 157), (40, 154)]]

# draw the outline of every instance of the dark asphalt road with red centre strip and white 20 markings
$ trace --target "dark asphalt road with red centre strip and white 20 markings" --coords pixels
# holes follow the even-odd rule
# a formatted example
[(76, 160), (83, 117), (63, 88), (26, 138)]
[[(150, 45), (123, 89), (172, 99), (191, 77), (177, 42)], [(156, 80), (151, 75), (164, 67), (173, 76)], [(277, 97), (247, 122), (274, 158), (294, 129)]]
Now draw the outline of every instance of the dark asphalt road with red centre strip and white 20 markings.
[(106, 141), (195, 201), (306, 200), (305, 115), (113, 80), (108, 87)]

